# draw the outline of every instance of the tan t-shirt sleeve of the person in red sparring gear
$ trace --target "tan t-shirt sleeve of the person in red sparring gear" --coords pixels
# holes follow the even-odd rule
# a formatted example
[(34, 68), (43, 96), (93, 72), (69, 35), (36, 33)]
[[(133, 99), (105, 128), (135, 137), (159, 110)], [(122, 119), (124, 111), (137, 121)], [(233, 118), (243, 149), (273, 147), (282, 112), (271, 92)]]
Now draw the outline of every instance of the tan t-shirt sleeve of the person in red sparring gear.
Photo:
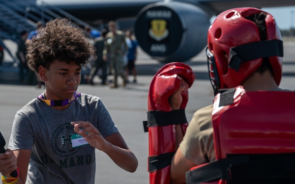
[(197, 110), (187, 127), (186, 133), (180, 143), (180, 150), (185, 158), (196, 165), (216, 160), (213, 128), (213, 105)]

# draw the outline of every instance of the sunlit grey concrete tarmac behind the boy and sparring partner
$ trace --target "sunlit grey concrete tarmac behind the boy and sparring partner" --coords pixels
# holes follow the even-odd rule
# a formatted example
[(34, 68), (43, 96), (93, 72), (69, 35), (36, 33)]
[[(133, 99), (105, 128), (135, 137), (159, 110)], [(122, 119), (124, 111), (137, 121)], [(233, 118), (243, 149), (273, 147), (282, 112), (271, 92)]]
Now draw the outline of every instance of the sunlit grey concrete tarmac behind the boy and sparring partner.
[[(284, 43), (284, 64), (281, 88), (295, 89), (295, 43)], [(193, 113), (213, 101), (213, 90), (208, 80), (207, 58), (205, 50), (187, 61), (196, 74), (196, 80), (189, 89), (189, 101), (186, 116), (191, 120)], [(165, 63), (159, 63), (139, 49), (136, 63), (138, 82), (126, 87), (110, 89), (100, 85), (95, 78), (95, 85), (81, 84), (79, 92), (98, 96), (107, 106), (120, 133), (129, 148), (138, 158), (139, 165), (135, 173), (120, 169), (105, 153), (96, 151), (95, 184), (148, 184), (148, 133), (144, 132), (143, 121), (147, 120), (148, 89), (154, 74)], [(133, 77), (129, 76), (132, 81)], [(120, 81), (119, 81), (120, 83)], [(34, 86), (0, 84), (0, 131), (8, 144), (14, 115), (31, 99), (36, 98), (44, 89)], [(7, 147), (7, 146), (6, 146)], [(5, 147), (5, 148), (6, 148)]]

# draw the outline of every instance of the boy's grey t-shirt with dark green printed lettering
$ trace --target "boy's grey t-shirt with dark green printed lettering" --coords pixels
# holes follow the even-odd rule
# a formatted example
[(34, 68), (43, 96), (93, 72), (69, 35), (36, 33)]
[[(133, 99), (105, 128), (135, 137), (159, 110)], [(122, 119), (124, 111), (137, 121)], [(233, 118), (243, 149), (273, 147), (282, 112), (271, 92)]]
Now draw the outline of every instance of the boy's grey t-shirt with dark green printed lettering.
[(16, 113), (8, 147), (31, 150), (26, 184), (94, 184), (95, 148), (72, 147), (73, 121), (89, 121), (103, 137), (118, 132), (101, 99), (87, 94), (64, 110), (33, 99)]

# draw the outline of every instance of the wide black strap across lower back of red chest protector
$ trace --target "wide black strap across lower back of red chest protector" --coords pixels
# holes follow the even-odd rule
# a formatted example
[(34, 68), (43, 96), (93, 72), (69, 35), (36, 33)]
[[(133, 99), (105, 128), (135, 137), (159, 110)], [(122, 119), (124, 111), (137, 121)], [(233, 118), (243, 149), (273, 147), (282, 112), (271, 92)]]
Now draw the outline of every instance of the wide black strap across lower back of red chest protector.
[(295, 154), (234, 155), (186, 172), (186, 184), (295, 183)]

